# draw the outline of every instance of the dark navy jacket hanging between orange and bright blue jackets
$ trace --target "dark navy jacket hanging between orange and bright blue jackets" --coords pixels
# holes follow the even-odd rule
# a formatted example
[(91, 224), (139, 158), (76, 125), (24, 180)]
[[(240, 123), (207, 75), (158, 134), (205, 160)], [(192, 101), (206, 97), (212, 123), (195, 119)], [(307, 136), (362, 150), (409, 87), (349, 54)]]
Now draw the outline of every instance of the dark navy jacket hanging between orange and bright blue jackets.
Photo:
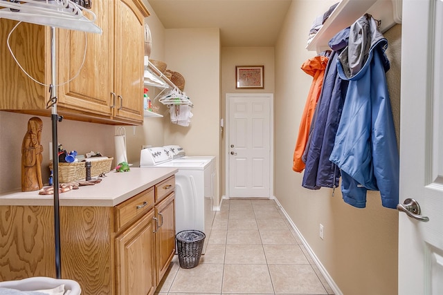
[(347, 80), (341, 79), (337, 73), (337, 59), (346, 46), (350, 28), (345, 28), (329, 41), (332, 48), (327, 64), (323, 89), (314, 114), (309, 135), (309, 146), (305, 152), (305, 173), (302, 186), (307, 189), (320, 187), (338, 187), (340, 169), (329, 161), (334, 147), (335, 135), (340, 122), (343, 103), (347, 91)]

